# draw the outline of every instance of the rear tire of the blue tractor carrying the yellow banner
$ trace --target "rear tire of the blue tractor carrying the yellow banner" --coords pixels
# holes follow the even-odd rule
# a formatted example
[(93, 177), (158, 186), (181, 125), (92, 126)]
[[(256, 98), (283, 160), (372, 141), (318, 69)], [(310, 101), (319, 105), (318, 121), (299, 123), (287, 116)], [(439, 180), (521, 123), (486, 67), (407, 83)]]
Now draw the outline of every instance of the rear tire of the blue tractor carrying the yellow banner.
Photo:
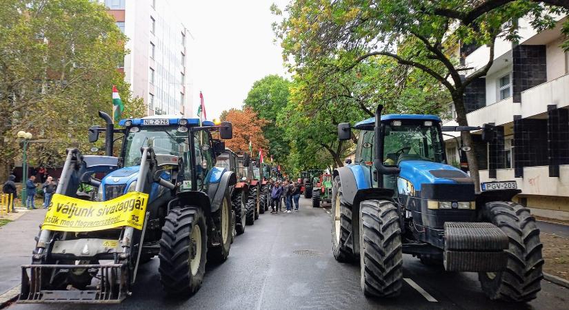
[(219, 232), (219, 245), (211, 247), (208, 250), (208, 260), (218, 263), (225, 262), (231, 249), (232, 234), (231, 200), (229, 199), (229, 195), (223, 198), (219, 210), (212, 214), (212, 216), (217, 228), (216, 230)]

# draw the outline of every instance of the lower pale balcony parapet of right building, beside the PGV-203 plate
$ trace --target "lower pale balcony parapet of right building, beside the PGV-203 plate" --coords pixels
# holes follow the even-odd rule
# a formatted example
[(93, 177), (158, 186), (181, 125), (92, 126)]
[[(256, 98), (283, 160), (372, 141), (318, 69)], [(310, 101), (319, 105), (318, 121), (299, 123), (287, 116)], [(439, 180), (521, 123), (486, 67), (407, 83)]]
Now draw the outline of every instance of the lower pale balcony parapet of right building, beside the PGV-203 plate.
[(523, 178), (514, 177), (514, 169), (496, 169), (497, 178), (488, 178), (488, 170), (480, 170), (480, 182), (516, 180), (524, 195), (569, 197), (569, 165), (559, 166), (559, 178), (550, 178), (548, 166), (523, 168)]

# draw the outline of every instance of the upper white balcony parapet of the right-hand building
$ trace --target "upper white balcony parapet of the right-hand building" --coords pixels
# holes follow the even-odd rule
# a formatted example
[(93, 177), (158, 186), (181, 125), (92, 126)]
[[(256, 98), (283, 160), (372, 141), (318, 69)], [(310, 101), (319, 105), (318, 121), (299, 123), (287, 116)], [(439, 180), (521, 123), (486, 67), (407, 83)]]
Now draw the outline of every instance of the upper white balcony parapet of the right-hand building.
[(569, 74), (521, 92), (521, 117), (547, 112), (548, 105), (569, 106)]

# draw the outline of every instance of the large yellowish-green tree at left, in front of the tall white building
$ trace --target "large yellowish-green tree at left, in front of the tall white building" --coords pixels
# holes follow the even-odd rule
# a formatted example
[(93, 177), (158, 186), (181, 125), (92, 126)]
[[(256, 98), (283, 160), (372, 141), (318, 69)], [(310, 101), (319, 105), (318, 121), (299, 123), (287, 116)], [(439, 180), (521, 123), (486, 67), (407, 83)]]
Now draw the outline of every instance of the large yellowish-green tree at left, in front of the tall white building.
[[(19, 157), (15, 133), (32, 132), (30, 164), (60, 165), (66, 147), (86, 151), (87, 130), (111, 112), (117, 85), (126, 115), (141, 116), (117, 65), (126, 37), (88, 0), (1, 0), (0, 178)], [(47, 143), (48, 142), (48, 143)]]

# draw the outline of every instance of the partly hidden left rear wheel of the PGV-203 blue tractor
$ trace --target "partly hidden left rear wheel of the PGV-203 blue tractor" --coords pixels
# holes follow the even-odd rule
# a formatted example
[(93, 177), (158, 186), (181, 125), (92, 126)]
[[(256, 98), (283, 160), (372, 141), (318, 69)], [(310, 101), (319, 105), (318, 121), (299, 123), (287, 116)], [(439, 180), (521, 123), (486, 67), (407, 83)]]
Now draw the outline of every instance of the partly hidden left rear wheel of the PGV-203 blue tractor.
[(341, 202), (340, 177), (334, 178), (332, 187), (332, 254), (339, 262), (352, 262), (354, 252), (346, 244), (352, 234), (352, 206)]

